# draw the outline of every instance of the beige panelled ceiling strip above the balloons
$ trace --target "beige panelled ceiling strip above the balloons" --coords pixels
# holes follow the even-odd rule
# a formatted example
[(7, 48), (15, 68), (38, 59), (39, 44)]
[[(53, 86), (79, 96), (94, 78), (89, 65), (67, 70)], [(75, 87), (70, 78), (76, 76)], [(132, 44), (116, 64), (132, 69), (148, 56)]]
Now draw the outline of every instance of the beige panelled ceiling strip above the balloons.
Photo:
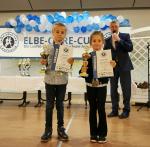
[(0, 12), (150, 8), (150, 0), (0, 0)]

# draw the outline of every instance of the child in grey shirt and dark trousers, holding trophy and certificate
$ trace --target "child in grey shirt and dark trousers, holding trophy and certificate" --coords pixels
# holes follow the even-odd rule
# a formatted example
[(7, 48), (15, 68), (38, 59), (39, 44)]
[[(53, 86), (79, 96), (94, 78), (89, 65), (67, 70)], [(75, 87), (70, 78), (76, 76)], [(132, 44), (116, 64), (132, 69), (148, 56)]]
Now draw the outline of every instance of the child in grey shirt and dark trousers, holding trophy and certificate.
[[(54, 50), (63, 44), (66, 37), (67, 29), (64, 24), (56, 23), (52, 28), (53, 44), (49, 45), (48, 60), (41, 59), (41, 64), (47, 65), (45, 71), (45, 89), (46, 89), (46, 123), (45, 132), (41, 136), (42, 142), (47, 142), (52, 136), (52, 116), (54, 101), (56, 97), (57, 109), (57, 132), (60, 140), (68, 140), (68, 135), (64, 128), (64, 105), (63, 100), (66, 93), (66, 85), (68, 83), (68, 73), (51, 70), (52, 58)], [(69, 58), (68, 62), (73, 64), (73, 58)]]

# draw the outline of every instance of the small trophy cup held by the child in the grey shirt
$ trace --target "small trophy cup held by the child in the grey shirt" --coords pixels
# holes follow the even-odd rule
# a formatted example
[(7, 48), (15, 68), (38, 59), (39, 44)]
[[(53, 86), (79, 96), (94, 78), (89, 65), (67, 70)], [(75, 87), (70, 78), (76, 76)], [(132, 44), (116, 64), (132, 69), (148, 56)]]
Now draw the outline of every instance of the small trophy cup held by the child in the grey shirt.
[[(48, 59), (49, 56), (49, 45), (48, 44), (44, 44), (43, 45), (43, 51), (40, 53), (40, 56), (42, 59)], [(43, 65), (41, 68), (41, 71), (46, 71), (46, 65)]]

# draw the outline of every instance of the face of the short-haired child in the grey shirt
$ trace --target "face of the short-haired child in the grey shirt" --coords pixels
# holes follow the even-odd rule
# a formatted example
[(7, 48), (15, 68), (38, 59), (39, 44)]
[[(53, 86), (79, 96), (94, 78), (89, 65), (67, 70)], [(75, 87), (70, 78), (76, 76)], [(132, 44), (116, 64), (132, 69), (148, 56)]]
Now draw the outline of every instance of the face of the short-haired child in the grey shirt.
[(60, 43), (66, 37), (66, 28), (64, 26), (56, 25), (56, 26), (54, 26), (52, 33), (53, 33), (53, 40), (56, 43)]

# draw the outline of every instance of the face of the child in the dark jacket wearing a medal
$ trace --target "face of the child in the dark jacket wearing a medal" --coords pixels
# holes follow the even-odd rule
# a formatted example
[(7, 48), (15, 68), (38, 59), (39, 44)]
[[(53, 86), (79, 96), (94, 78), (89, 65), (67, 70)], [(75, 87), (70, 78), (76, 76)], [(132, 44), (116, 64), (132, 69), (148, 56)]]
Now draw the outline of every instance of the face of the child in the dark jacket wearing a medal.
[(100, 35), (94, 35), (91, 40), (91, 47), (93, 50), (98, 51), (103, 47), (103, 39)]

